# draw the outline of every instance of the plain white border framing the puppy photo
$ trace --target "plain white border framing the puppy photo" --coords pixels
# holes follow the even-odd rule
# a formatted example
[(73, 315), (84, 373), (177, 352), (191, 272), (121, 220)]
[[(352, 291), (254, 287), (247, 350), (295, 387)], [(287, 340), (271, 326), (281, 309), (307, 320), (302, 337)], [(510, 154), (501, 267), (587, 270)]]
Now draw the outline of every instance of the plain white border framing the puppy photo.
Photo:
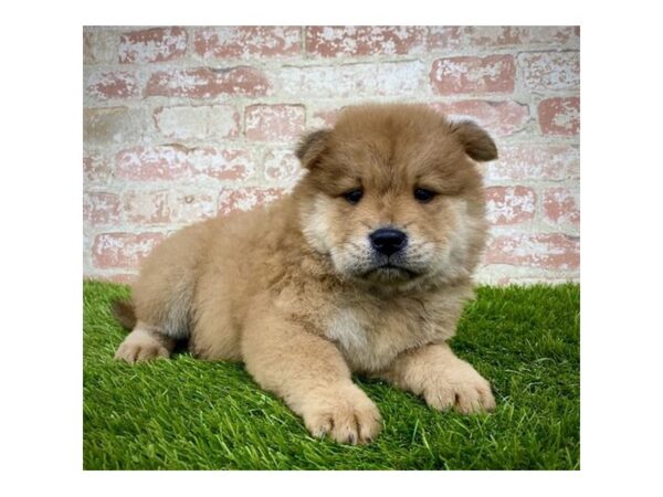
[[(298, 7), (293, 6), (298, 3)], [(659, 15), (643, 2), (13, 6), (2, 36), (3, 486), (20, 494), (651, 494), (660, 466)], [(347, 7), (345, 7), (347, 6)], [(345, 8), (344, 8), (345, 7)], [(527, 9), (536, 12), (532, 14)], [(77, 17), (76, 17), (77, 12)], [(632, 12), (638, 12), (636, 18)], [(581, 472), (82, 472), (83, 24), (581, 24)], [(7, 275), (9, 277), (7, 277)], [(650, 490), (650, 491), (648, 491)]]

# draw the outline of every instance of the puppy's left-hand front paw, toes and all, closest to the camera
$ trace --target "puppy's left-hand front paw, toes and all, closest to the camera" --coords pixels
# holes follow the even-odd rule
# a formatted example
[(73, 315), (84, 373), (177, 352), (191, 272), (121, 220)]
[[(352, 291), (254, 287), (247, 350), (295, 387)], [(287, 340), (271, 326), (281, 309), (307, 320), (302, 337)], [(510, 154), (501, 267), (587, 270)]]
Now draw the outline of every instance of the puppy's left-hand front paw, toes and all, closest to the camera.
[(365, 444), (382, 427), (378, 408), (355, 385), (338, 393), (320, 394), (307, 404), (304, 423), (317, 437), (329, 435), (344, 444)]

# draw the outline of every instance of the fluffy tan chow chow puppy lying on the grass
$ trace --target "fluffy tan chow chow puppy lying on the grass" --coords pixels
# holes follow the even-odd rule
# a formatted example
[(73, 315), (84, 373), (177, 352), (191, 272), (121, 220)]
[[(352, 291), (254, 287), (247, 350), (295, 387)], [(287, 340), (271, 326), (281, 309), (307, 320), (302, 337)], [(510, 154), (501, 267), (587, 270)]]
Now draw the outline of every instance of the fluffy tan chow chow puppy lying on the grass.
[[(316, 436), (366, 443), (380, 413), (351, 374), (383, 379), (433, 409), (495, 406), (454, 356), (486, 239), (482, 180), (491, 137), (424, 106), (348, 107), (309, 134), (292, 194), (186, 228), (145, 261), (117, 314), (116, 358), (243, 361)], [(222, 379), (220, 380), (222, 381)]]

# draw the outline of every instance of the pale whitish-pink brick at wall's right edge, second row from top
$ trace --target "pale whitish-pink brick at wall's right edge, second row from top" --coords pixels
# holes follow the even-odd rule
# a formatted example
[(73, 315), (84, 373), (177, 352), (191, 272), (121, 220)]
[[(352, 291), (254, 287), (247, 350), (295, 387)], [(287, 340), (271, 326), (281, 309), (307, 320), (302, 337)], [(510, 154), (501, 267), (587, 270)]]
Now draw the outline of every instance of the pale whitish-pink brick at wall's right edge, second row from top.
[(580, 85), (579, 52), (538, 52), (518, 56), (523, 82), (529, 89), (577, 89)]

